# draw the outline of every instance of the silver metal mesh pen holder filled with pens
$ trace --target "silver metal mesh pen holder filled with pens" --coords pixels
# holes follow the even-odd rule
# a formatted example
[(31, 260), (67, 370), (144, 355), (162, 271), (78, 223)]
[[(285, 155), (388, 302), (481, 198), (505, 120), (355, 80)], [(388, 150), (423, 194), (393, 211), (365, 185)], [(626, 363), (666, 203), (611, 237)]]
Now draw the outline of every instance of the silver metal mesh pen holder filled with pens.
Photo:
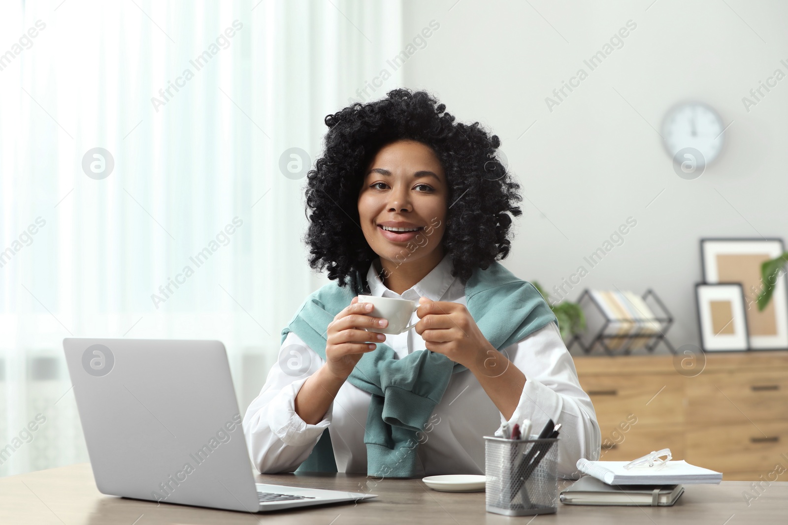
[(552, 514), (558, 508), (558, 440), (485, 436), (487, 512)]

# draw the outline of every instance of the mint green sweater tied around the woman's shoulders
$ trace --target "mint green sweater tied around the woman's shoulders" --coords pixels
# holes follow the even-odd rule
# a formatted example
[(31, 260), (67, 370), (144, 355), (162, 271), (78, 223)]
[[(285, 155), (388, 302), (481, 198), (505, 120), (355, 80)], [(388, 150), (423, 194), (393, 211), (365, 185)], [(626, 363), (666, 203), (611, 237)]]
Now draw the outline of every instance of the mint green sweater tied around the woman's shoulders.
[[(355, 272), (355, 279), (357, 289), (361, 290), (366, 279), (362, 279), (360, 272)], [(293, 331), (325, 360), (326, 329), (354, 296), (350, 287), (340, 287), (337, 283), (326, 284), (310, 294), (288, 327), (282, 330), (281, 343)], [(465, 297), (468, 312), (481, 333), (499, 350), (550, 322), (558, 324), (537, 289), (498, 262), (486, 270), (474, 271), (466, 283)], [(429, 350), (399, 359), (390, 346), (377, 343), (377, 349), (364, 354), (348, 381), (372, 394), (364, 431), (367, 475), (388, 478), (420, 475), (416, 432), (424, 430), (452, 374), (464, 370), (463, 365)], [(336, 472), (328, 428), (298, 471)]]

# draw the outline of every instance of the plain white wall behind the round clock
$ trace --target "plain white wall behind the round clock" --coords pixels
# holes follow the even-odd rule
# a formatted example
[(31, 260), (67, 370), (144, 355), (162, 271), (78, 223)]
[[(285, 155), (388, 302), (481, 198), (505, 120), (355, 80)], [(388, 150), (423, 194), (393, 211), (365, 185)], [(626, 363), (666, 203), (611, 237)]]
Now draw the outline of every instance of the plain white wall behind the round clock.
[[(568, 297), (651, 287), (674, 313), (671, 342), (699, 344), (699, 239), (788, 233), (788, 79), (749, 113), (742, 103), (776, 68), (788, 73), (788, 2), (529, 2), (406, 0), (405, 42), (440, 24), (407, 61), (406, 85), (503, 142), (526, 197), (507, 268), (551, 290), (589, 269), (583, 257), (632, 216), (623, 245)], [(589, 71), (583, 60), (627, 20), (637, 28)], [(581, 67), (589, 77), (551, 113), (545, 97)], [(686, 99), (733, 121), (723, 153), (695, 180), (675, 174), (653, 129)]]

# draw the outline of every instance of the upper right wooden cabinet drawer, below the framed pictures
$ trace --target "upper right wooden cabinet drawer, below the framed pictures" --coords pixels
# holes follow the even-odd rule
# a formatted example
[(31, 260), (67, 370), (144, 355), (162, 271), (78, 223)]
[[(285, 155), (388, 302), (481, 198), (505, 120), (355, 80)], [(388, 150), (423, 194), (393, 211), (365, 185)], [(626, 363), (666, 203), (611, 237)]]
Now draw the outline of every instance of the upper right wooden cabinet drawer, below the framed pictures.
[(686, 382), (686, 393), (691, 423), (788, 420), (785, 370), (704, 373)]

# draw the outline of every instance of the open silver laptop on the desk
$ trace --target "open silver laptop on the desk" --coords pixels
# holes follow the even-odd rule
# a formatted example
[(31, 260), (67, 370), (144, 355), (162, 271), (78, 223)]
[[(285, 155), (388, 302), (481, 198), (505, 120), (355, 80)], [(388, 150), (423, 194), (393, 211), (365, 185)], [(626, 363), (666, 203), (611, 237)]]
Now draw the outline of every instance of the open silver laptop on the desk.
[(376, 497), (255, 485), (221, 342), (65, 338), (63, 348), (103, 494), (244, 512)]

